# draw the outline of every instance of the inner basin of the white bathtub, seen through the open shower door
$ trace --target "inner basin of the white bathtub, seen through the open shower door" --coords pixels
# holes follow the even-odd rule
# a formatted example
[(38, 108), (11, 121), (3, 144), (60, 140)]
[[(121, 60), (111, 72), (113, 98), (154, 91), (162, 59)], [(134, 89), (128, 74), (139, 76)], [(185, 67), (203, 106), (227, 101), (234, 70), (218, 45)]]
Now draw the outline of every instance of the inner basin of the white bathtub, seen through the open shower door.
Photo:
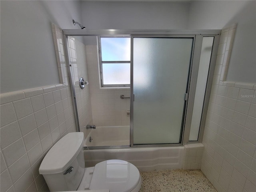
[[(92, 138), (90, 142), (90, 137)], [(84, 140), (85, 147), (129, 146), (130, 126), (97, 126)]]

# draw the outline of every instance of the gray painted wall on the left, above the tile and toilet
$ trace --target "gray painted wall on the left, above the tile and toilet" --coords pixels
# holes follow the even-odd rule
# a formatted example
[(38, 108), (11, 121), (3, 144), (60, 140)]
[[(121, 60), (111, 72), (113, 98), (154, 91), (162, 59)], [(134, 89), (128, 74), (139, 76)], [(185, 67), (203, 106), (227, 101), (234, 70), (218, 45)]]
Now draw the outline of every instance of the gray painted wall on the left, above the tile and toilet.
[(58, 84), (51, 23), (76, 28), (79, 1), (2, 1), (1, 93)]

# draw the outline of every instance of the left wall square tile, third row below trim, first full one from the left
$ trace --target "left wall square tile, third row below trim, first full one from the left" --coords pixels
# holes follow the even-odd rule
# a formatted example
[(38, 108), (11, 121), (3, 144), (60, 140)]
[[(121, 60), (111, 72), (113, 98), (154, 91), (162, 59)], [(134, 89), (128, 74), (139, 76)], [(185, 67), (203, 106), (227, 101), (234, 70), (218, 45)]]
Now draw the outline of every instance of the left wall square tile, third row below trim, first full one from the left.
[(8, 147), (4, 148), (2, 150), (2, 153), (4, 155), (4, 159), (6, 160), (6, 165), (10, 166), (11, 164), (13, 164), (16, 160), (18, 160), (22, 155), (26, 153), (22, 138), (20, 138), (16, 142), (13, 142)]

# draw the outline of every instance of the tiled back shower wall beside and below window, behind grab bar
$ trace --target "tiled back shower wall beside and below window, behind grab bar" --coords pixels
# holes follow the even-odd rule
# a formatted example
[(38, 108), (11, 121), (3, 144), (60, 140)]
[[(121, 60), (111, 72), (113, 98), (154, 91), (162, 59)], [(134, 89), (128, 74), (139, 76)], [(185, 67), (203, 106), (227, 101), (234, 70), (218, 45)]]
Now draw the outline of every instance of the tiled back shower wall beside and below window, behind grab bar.
[(130, 96), (130, 88), (100, 88), (98, 56), (96, 45), (86, 45), (86, 57), (93, 123), (96, 126), (130, 125), (130, 99), (120, 99), (120, 95)]

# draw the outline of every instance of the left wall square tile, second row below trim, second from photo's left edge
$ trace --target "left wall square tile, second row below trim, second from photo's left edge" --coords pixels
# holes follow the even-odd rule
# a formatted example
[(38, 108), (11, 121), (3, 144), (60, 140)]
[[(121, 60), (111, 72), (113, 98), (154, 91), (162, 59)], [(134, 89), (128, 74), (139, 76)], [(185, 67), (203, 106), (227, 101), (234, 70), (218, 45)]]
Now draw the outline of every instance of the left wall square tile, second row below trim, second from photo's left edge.
[(20, 131), (22, 135), (26, 135), (28, 132), (36, 128), (36, 120), (34, 114), (30, 114), (24, 118), (18, 120)]

